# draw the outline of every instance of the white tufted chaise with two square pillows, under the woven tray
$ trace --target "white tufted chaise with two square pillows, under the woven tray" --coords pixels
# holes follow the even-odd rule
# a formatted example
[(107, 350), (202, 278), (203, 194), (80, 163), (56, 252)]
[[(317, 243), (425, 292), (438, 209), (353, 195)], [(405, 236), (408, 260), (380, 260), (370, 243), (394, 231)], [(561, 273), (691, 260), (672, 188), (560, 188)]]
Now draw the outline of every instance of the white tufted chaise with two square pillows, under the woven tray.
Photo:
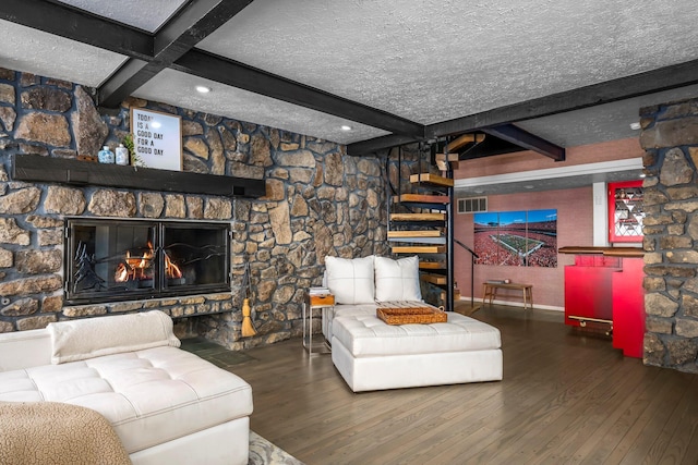
[(385, 302), (425, 306), (418, 257), (326, 257), (325, 284), (335, 307), (323, 309), (323, 334), (349, 388), (372, 391), (497, 381), (503, 377), (500, 331), (453, 311), (446, 322), (387, 325), (376, 316)]

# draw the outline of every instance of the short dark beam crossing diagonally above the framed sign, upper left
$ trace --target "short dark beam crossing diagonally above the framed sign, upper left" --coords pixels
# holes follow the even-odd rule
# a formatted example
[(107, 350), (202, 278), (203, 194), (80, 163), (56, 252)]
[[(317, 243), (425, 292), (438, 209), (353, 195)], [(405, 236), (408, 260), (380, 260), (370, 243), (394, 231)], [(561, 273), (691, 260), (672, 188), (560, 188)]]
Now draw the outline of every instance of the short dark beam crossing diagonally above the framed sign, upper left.
[(240, 13), (252, 0), (198, 0), (170, 20), (153, 38), (148, 62), (131, 59), (97, 89), (99, 105), (118, 107), (142, 85)]

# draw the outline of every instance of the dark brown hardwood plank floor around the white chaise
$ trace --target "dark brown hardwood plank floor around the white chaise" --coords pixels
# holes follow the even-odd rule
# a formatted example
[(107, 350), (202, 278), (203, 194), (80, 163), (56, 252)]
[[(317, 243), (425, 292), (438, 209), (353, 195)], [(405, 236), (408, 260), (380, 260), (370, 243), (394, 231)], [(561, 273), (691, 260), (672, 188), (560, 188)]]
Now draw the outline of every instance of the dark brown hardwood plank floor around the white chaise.
[(354, 394), (300, 340), (230, 369), (252, 384), (252, 429), (306, 464), (698, 463), (698, 376), (625, 358), (559, 313), (473, 317), (502, 331), (501, 382)]

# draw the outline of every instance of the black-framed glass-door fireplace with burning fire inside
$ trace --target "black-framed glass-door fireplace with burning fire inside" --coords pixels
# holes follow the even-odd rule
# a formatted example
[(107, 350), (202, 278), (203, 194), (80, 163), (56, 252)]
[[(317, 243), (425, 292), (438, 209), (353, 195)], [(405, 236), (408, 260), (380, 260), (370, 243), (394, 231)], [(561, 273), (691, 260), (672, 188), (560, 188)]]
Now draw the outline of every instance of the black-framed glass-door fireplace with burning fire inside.
[(230, 291), (229, 244), (229, 223), (68, 219), (65, 301)]

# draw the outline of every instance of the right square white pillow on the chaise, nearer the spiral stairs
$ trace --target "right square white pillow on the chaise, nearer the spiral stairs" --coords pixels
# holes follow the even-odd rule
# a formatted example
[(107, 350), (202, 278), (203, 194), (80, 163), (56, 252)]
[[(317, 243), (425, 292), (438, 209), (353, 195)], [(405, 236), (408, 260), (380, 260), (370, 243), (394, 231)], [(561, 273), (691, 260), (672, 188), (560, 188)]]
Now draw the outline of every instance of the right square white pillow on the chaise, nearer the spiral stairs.
[(375, 299), (378, 302), (421, 301), (419, 257), (397, 260), (375, 257)]

